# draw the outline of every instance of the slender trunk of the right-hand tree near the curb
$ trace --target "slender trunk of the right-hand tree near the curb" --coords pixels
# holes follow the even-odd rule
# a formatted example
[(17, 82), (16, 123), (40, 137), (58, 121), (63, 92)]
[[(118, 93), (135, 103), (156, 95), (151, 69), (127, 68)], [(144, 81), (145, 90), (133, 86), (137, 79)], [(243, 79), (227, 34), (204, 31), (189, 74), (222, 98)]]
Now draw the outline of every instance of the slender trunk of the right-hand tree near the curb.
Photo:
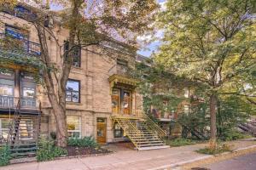
[(210, 96), (210, 116), (211, 116), (210, 147), (212, 149), (216, 147), (216, 136), (217, 136), (216, 113), (217, 113), (217, 95), (211, 94)]

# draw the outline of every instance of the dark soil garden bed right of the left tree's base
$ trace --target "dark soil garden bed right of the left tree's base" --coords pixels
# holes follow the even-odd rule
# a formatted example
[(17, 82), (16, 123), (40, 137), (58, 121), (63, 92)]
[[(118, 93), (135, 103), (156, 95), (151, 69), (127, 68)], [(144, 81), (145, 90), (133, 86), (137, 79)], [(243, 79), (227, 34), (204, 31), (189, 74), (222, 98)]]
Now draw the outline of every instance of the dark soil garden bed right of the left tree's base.
[(110, 150), (103, 149), (101, 147), (78, 147), (78, 146), (67, 146), (67, 156), (84, 156), (84, 155), (96, 155), (96, 154), (107, 154)]

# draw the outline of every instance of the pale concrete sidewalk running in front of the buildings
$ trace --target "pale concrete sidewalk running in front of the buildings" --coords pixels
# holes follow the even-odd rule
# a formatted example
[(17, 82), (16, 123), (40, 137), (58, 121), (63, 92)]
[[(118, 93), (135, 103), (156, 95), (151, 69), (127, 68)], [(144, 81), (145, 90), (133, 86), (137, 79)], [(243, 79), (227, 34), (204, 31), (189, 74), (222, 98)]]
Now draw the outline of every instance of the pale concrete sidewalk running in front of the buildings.
[[(256, 141), (234, 141), (233, 149), (256, 145)], [(30, 162), (0, 167), (0, 170), (140, 170), (165, 169), (173, 164), (207, 157), (195, 150), (205, 144), (168, 148), (162, 150), (137, 151), (125, 148), (113, 148), (115, 153), (107, 156), (89, 156), (83, 158), (56, 161)]]

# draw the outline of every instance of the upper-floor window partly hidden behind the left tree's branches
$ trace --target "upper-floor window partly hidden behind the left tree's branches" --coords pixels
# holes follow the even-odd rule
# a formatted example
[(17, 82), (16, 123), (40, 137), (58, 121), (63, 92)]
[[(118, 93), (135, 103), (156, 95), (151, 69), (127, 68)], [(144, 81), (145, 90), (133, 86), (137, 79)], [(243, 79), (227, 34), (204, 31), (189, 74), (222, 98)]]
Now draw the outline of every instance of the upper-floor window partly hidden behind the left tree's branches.
[[(67, 52), (68, 48), (69, 48), (69, 42), (65, 41), (64, 53)], [(75, 46), (71, 53), (73, 53), (73, 66), (80, 67), (81, 66), (81, 48), (79, 47), (79, 45)]]

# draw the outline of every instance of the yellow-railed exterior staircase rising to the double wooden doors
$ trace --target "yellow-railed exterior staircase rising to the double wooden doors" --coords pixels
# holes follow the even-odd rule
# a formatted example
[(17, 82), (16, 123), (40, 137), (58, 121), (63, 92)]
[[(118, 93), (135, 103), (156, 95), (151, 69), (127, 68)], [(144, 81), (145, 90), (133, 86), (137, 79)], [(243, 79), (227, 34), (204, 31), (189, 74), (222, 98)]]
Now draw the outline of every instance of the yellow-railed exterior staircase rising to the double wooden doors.
[(143, 117), (112, 117), (113, 122), (117, 122), (124, 130), (137, 150), (154, 150), (169, 148), (164, 139), (166, 132), (155, 124), (148, 116)]

